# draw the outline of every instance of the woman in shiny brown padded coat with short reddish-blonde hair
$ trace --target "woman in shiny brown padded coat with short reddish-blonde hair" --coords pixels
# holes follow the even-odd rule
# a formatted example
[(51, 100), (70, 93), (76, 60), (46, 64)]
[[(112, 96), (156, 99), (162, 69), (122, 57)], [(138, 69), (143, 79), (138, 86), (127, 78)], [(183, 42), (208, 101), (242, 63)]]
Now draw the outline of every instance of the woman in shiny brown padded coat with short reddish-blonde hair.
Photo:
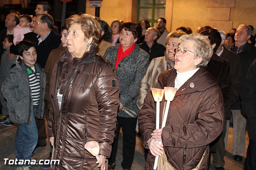
[[(100, 25), (88, 14), (66, 20), (67, 50), (54, 65), (50, 82), (48, 136), (57, 170), (101, 170), (107, 166), (116, 128), (119, 84), (115, 68), (96, 54)], [(95, 140), (100, 162), (84, 145)], [(106, 163), (105, 163), (106, 162)]]

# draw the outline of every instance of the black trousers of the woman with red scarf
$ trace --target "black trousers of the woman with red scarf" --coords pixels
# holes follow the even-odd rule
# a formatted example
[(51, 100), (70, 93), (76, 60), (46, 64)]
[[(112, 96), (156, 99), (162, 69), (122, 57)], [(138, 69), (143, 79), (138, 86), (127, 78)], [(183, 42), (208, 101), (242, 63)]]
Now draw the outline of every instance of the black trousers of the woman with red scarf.
[(129, 169), (132, 167), (132, 162), (134, 159), (135, 145), (136, 145), (136, 123), (137, 119), (117, 117), (117, 129), (114, 142), (112, 144), (112, 152), (110, 158), (108, 159), (108, 164), (112, 165), (116, 162), (116, 152), (118, 149), (118, 136), (120, 133), (120, 128), (122, 127), (123, 132), (123, 161), (122, 168)]

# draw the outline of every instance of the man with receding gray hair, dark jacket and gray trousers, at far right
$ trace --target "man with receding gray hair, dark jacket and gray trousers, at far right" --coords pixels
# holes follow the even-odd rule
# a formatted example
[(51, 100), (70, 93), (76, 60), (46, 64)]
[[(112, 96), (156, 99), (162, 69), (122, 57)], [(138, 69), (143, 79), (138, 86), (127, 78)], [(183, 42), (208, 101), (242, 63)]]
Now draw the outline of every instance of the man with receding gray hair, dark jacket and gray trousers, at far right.
[[(256, 59), (256, 48), (247, 42), (251, 33), (252, 29), (249, 26), (244, 24), (238, 26), (235, 34), (235, 44), (231, 47), (231, 51), (238, 53), (240, 56), (243, 81), (250, 64)], [(233, 118), (232, 154), (235, 155), (234, 160), (241, 162), (245, 151), (246, 118), (241, 112), (240, 97), (238, 97), (231, 109)]]

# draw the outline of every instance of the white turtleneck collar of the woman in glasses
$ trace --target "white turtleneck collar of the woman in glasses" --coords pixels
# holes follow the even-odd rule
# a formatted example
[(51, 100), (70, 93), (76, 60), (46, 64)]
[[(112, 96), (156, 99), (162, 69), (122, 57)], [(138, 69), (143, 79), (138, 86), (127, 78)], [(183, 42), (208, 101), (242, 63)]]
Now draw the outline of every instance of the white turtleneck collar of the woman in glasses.
[(177, 75), (176, 75), (176, 78), (175, 78), (174, 87), (179, 89), (199, 69), (200, 68), (197, 68), (197, 69), (194, 69), (194, 70), (191, 70), (191, 71), (186, 71), (186, 72), (183, 72), (183, 73), (180, 73), (180, 72), (176, 71)]

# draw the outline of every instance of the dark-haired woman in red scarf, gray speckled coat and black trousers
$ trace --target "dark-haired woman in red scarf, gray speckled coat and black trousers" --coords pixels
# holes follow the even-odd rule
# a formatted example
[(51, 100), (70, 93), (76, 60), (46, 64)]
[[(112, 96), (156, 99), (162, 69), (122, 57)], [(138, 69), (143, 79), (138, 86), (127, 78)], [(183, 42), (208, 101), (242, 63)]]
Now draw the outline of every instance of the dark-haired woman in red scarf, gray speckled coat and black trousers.
[[(112, 144), (108, 169), (116, 166), (116, 152), (120, 128), (123, 132), (123, 161), (122, 168), (130, 170), (134, 158), (136, 145), (136, 123), (139, 113), (136, 101), (138, 99), (139, 82), (145, 74), (149, 64), (149, 54), (140, 49), (135, 43), (141, 36), (141, 27), (132, 22), (124, 22), (119, 27), (120, 44), (108, 47), (104, 57), (116, 68), (120, 85), (120, 105), (117, 115), (116, 136)], [(123, 108), (134, 111), (136, 117), (128, 115)]]

